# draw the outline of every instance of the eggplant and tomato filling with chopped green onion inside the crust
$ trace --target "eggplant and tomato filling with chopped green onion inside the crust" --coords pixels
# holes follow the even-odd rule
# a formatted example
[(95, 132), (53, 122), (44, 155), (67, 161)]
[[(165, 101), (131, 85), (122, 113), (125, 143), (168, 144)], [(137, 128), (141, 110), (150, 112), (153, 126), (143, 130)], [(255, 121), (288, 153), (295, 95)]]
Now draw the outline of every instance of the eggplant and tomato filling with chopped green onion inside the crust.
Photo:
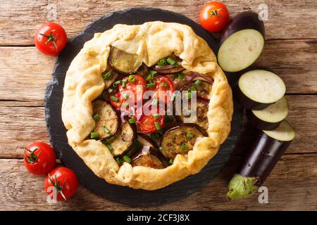
[(163, 169), (187, 155), (208, 129), (213, 80), (185, 70), (174, 54), (148, 68), (137, 55), (111, 48), (105, 89), (93, 103), (97, 139), (119, 165)]

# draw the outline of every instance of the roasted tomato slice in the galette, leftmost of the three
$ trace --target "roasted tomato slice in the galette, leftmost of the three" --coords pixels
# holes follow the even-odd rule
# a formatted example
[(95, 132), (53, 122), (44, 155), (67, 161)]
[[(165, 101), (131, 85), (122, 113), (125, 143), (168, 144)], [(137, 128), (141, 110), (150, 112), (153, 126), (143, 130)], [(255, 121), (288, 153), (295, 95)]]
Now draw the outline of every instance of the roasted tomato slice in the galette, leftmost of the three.
[[(114, 84), (116, 84), (116, 82)], [(139, 75), (129, 75), (128, 77), (123, 78), (110, 95), (111, 105), (119, 109), (123, 102), (130, 101), (132, 97), (134, 103), (142, 101), (145, 84), (147, 84), (147, 82)]]

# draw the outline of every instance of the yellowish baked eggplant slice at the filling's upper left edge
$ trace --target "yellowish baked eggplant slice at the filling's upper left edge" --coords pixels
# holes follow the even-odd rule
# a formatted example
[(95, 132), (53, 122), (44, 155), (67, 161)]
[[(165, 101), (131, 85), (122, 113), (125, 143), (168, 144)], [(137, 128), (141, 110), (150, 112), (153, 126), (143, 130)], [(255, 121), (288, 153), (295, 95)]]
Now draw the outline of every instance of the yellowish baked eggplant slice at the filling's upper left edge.
[(111, 47), (110, 51), (110, 65), (118, 72), (131, 74), (136, 72), (142, 65), (142, 59), (136, 54), (126, 53), (115, 47)]

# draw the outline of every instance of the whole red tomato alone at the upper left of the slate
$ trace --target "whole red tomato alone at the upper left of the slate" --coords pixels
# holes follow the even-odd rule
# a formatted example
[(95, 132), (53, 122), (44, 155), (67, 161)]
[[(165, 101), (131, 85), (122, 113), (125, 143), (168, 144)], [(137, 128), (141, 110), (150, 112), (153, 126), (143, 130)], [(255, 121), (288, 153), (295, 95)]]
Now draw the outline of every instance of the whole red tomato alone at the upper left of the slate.
[(67, 34), (57, 23), (44, 23), (35, 33), (34, 41), (44, 55), (54, 56), (65, 47)]

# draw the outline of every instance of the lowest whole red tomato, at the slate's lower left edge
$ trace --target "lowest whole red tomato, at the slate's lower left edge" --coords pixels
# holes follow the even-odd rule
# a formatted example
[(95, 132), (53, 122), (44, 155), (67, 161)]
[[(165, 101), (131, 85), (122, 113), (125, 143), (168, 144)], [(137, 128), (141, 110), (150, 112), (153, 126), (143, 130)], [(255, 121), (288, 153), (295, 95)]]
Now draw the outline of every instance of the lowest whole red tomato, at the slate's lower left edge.
[(57, 167), (46, 176), (44, 188), (47, 195), (56, 194), (52, 198), (58, 201), (68, 200), (75, 195), (78, 188), (78, 179), (73, 170), (66, 167)]

